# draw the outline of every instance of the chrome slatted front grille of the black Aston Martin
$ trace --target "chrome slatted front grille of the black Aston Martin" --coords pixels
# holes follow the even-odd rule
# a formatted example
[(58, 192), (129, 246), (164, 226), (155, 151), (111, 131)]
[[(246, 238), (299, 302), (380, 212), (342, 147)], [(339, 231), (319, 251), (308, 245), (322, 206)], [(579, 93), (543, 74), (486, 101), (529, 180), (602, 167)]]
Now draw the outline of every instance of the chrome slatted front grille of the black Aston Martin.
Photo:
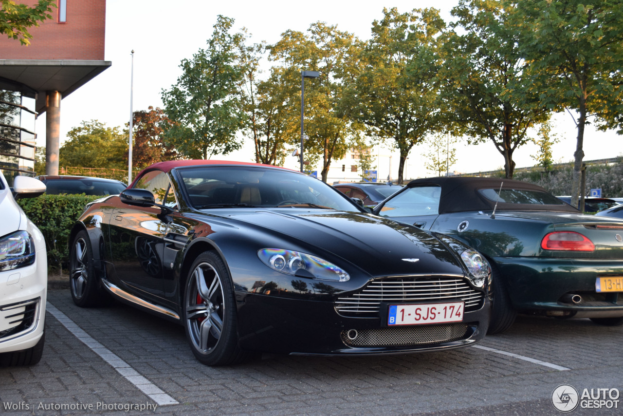
[(482, 307), (484, 294), (473, 289), (459, 276), (401, 276), (374, 279), (356, 293), (339, 297), (335, 310), (342, 316), (379, 315), (381, 302), (414, 304), (417, 302), (465, 302), (465, 312)]

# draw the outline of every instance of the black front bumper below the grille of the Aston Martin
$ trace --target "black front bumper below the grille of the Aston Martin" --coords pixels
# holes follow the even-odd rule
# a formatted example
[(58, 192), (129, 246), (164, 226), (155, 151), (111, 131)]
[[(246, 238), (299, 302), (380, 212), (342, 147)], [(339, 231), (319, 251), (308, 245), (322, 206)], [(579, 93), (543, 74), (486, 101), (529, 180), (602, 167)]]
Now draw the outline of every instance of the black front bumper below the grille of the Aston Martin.
[[(381, 317), (343, 317), (335, 303), (237, 292), (240, 347), (305, 355), (440, 351), (475, 344), (487, 333), (490, 303), (462, 322), (388, 327)], [(356, 331), (356, 332), (353, 332)], [(351, 339), (354, 335), (354, 339)]]

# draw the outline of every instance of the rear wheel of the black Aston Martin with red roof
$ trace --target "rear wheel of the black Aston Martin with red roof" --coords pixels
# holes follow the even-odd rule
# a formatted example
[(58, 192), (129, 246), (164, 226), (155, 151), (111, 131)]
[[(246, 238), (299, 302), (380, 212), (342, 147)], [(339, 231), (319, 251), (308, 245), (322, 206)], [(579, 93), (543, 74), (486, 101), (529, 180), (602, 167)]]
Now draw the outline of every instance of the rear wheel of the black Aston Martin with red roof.
[(102, 305), (108, 296), (98, 284), (93, 249), (87, 231), (82, 230), (75, 236), (69, 253), (69, 288), (74, 303), (80, 307)]

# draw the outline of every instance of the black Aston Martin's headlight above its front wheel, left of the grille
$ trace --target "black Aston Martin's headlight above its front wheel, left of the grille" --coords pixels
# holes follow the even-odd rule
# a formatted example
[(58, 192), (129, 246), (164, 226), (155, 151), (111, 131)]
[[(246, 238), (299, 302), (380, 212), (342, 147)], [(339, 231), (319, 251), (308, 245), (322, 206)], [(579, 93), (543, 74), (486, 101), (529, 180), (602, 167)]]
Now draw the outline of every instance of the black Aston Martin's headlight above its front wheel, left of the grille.
[(257, 252), (257, 256), (271, 269), (292, 276), (340, 282), (350, 279), (348, 273), (335, 264), (299, 251), (263, 248)]

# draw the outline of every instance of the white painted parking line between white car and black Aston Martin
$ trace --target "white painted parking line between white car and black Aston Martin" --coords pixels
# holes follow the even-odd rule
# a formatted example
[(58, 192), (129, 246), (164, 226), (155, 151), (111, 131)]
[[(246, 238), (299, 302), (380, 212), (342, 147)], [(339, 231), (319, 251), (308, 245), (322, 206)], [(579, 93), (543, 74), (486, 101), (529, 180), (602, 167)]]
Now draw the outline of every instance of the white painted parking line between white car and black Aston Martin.
[(125, 377), (131, 384), (135, 385), (137, 389), (141, 390), (145, 395), (150, 397), (159, 406), (179, 404), (179, 402), (173, 397), (169, 396), (157, 385), (153, 384), (150, 380), (139, 374), (138, 371), (133, 369), (130, 364), (120, 359), (112, 351), (104, 347), (100, 342), (97, 342), (92, 336), (87, 334), (82, 328), (80, 328), (74, 321), (69, 319), (67, 315), (59, 311), (57, 307), (52, 305), (49, 301), (45, 309), (52, 314), (58, 321), (67, 328), (67, 331), (74, 334), (74, 336), (82, 341), (87, 347), (89, 347), (95, 354), (102, 357), (104, 361), (117, 370), (119, 374)]

